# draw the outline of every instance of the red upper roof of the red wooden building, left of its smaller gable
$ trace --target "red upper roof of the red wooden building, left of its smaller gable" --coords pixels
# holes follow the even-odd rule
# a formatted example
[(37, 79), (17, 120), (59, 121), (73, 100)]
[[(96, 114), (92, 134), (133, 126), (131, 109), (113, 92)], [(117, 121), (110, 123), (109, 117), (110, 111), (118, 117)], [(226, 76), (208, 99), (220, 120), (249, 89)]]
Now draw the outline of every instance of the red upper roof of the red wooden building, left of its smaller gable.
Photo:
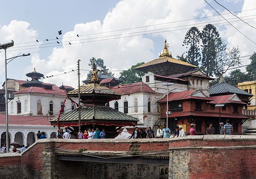
[[(184, 100), (184, 99), (201, 99), (201, 100), (208, 100), (211, 101), (210, 97), (199, 97), (199, 96), (192, 96), (195, 90), (183, 91), (183, 92), (175, 92), (168, 94), (168, 101), (177, 101), (177, 100)], [(163, 99), (159, 100), (158, 103), (166, 102), (167, 96)]]

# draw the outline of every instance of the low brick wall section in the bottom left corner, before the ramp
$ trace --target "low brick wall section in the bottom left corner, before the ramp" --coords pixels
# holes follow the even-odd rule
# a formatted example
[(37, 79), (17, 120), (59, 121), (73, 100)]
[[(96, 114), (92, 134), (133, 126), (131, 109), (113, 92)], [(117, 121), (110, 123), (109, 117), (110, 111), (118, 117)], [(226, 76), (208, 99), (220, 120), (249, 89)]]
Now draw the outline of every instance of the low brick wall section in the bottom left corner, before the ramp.
[(19, 153), (0, 154), (1, 179), (23, 179), (21, 157)]

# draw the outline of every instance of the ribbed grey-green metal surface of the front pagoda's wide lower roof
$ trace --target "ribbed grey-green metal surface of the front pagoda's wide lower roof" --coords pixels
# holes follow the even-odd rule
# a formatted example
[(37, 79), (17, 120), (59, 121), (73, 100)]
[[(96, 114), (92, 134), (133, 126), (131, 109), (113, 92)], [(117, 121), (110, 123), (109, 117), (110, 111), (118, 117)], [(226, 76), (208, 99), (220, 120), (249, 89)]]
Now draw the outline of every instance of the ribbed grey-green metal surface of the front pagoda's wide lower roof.
[[(62, 114), (59, 118), (59, 122), (78, 122), (78, 108), (68, 113)], [(50, 122), (57, 122), (58, 116), (52, 118)], [(125, 113), (117, 111), (107, 106), (84, 106), (81, 109), (81, 121), (86, 120), (115, 120), (115, 121), (134, 121), (138, 119), (129, 116)]]

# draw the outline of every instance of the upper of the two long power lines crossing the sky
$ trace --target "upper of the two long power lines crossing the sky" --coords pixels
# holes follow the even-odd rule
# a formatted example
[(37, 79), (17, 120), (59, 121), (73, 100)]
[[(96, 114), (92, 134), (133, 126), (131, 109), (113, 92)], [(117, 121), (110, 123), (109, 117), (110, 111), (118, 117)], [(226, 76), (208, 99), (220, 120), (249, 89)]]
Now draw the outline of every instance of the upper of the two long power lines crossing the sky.
[[(243, 10), (243, 11), (253, 11), (253, 10), (256, 10), (256, 8), (255, 9), (249, 9), (249, 10)], [(234, 13), (243, 12), (243, 11), (235, 11)], [(225, 14), (229, 14), (229, 13), (222, 13), (221, 15), (225, 15)], [(215, 17), (215, 16), (219, 16), (219, 14), (211, 15), (211, 16), (198, 17), (198, 18), (192, 18), (192, 19), (186, 19), (186, 20), (170, 21), (170, 22), (164, 22), (164, 23), (158, 23), (158, 24), (152, 24), (152, 25), (145, 25), (145, 26), (139, 26), (139, 27), (119, 29), (119, 30), (113, 30), (113, 31), (97, 32), (97, 33), (91, 33), (91, 34), (83, 34), (83, 35), (79, 35), (79, 36), (89, 36), (89, 35), (103, 34), (103, 33), (109, 33), (109, 32), (120, 32), (120, 31), (139, 29), (139, 28), (145, 28), (145, 27), (151, 27), (151, 26), (157, 26), (157, 25), (164, 25), (164, 24), (175, 23), (175, 22), (192, 21), (192, 20), (204, 19), (204, 18)], [(58, 39), (66, 39), (66, 38), (68, 39), (68, 38), (75, 38), (75, 37), (77, 37), (77, 36), (58, 38)], [(56, 38), (48, 39), (48, 41), (53, 41), (53, 40), (56, 40)], [(39, 40), (38, 42), (44, 42), (44, 41), (47, 41), (47, 40)], [(16, 44), (23, 44), (23, 43), (37, 43), (37, 42), (35, 42), (35, 41), (32, 41), (32, 42), (21, 42), (21, 43), (16, 43)]]

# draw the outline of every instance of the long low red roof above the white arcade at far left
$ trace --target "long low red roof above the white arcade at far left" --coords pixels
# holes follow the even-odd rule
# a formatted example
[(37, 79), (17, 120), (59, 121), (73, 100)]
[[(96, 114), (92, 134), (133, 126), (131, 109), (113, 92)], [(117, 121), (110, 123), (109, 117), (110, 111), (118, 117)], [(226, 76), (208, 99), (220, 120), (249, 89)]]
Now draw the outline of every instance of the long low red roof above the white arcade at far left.
[[(9, 125), (50, 126), (49, 116), (8, 116)], [(5, 124), (5, 115), (0, 115), (0, 124)]]

